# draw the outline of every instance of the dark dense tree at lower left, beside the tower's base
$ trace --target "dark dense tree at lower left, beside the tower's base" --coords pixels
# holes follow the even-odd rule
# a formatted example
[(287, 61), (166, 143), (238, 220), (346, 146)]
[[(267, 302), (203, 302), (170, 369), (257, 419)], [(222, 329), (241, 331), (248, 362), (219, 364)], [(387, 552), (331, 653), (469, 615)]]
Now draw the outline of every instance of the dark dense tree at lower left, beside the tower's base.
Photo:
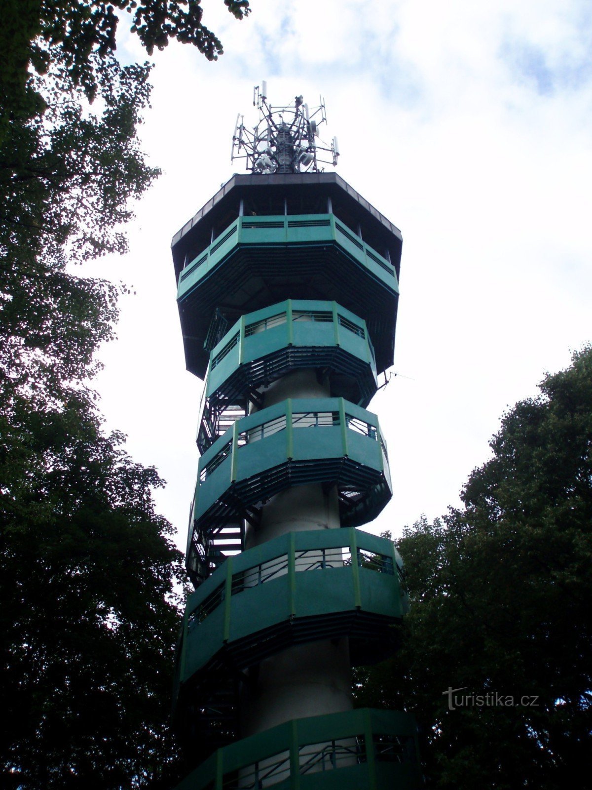
[[(86, 398), (2, 418), (0, 756), (6, 788), (132, 788), (173, 769), (182, 556), (152, 468)], [(178, 587), (177, 587), (178, 589)]]

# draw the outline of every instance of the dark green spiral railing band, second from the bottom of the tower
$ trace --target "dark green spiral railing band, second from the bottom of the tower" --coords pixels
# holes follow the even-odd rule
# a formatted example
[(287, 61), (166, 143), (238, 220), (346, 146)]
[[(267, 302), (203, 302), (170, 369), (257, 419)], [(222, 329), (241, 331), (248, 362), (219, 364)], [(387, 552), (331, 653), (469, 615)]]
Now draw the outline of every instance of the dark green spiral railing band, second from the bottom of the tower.
[[(320, 638), (322, 628), (384, 638), (378, 619), (393, 623), (408, 608), (403, 562), (392, 541), (354, 528), (290, 532), (228, 557), (189, 596), (178, 682), (220, 651), (238, 666), (253, 662), (260, 642), (273, 647), (269, 638), (260, 640), (265, 630), (278, 634), (275, 649), (285, 638)], [(351, 622), (344, 619), (347, 612), (357, 612)], [(312, 617), (318, 619), (315, 629), (298, 629), (299, 619), (310, 623)], [(278, 631), (283, 623), (290, 623), (290, 634)]]

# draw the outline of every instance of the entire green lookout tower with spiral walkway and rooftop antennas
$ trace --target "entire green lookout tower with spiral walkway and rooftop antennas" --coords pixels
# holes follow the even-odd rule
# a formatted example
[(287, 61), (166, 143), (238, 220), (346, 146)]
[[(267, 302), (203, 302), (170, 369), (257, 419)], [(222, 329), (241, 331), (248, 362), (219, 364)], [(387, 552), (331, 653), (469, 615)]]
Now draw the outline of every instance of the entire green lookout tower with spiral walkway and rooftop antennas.
[(367, 410), (393, 362), (400, 232), (334, 172), (324, 103), (255, 88), (234, 175), (174, 236), (187, 368), (205, 379), (178, 648), (182, 790), (413, 788), (414, 720), (352, 709), (351, 667), (392, 654), (392, 495)]

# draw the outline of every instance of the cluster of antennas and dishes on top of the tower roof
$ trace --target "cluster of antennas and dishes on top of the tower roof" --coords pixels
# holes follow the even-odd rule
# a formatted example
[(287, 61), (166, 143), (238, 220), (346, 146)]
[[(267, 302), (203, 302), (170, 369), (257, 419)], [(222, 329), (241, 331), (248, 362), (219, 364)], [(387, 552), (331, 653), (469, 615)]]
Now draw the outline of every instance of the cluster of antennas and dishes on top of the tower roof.
[(309, 107), (302, 96), (296, 96), (293, 104), (275, 107), (268, 103), (268, 85), (263, 80), (261, 88), (253, 88), (253, 106), (259, 111), (259, 122), (251, 131), (238, 114), (231, 161), (245, 159), (247, 170), (266, 175), (319, 172), (323, 170), (320, 164), (335, 167), (337, 137), (328, 145), (319, 136), (319, 127), (327, 121), (323, 99), (318, 107)]

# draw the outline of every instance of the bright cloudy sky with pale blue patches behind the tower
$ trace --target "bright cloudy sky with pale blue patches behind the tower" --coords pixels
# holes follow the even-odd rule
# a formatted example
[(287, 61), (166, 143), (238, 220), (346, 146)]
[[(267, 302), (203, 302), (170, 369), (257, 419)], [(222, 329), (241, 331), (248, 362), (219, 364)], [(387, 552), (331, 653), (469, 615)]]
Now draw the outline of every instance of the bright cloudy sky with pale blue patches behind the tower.
[[(395, 367), (370, 405), (395, 493), (373, 531), (459, 503), (508, 405), (592, 340), (592, 5), (569, 0), (204, 0), (225, 54), (154, 58), (144, 149), (163, 176), (125, 258), (87, 269), (133, 286), (97, 382), (107, 427), (167, 480), (184, 547), (202, 382), (185, 372), (170, 239), (243, 163), (238, 111), (322, 94), (339, 175), (403, 233)], [(125, 35), (118, 54), (144, 60)], [(328, 168), (331, 169), (331, 168)], [(404, 378), (403, 378), (404, 377)], [(368, 529), (366, 527), (365, 529)]]

